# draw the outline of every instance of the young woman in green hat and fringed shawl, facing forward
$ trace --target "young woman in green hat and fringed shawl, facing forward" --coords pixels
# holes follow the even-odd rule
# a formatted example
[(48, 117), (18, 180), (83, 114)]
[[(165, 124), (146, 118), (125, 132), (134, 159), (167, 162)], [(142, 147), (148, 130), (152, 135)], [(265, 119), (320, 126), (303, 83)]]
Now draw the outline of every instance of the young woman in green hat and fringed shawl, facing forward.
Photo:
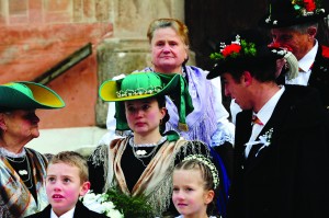
[(117, 125), (133, 134), (98, 147), (89, 159), (91, 190), (101, 193), (117, 188), (127, 195), (145, 196), (155, 216), (175, 214), (171, 204), (174, 164), (191, 153), (209, 157), (203, 142), (186, 141), (175, 131), (162, 133), (169, 118), (164, 95), (177, 104), (177, 125), (186, 128), (185, 116), (193, 105), (180, 74), (136, 72), (105, 81), (100, 96), (115, 102)]

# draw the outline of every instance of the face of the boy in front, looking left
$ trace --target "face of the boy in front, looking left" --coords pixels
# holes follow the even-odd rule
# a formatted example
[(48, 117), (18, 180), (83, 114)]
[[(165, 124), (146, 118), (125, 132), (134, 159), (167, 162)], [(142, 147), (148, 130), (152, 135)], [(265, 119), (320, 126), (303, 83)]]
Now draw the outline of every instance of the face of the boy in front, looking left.
[(47, 169), (46, 192), (54, 213), (61, 216), (72, 209), (79, 196), (83, 196), (89, 182), (81, 184), (79, 169), (66, 163), (49, 164)]

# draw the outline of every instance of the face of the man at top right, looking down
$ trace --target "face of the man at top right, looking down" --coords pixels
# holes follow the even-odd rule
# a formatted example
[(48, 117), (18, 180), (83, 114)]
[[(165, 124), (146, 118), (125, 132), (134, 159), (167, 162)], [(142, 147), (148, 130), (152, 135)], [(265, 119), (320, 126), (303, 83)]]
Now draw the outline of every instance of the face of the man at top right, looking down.
[(314, 37), (292, 28), (272, 28), (273, 43), (292, 49), (297, 60), (300, 60), (314, 46)]

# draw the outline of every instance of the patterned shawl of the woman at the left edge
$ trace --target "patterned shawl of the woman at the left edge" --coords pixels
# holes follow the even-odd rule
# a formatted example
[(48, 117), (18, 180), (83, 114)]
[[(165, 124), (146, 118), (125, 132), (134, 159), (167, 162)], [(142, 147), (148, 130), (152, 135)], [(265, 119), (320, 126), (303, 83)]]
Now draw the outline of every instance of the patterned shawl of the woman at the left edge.
[(45, 179), (47, 160), (33, 149), (25, 148), (32, 164), (37, 203), (20, 175), (0, 153), (0, 217), (20, 218), (41, 211), (48, 205)]

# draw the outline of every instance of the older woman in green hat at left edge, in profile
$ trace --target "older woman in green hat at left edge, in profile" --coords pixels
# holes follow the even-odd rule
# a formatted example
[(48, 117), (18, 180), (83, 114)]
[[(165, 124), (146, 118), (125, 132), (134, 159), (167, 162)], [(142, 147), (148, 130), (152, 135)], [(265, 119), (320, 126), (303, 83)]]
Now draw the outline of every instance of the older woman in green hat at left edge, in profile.
[(25, 217), (48, 205), (47, 159), (24, 148), (39, 136), (36, 108), (60, 108), (61, 97), (34, 82), (0, 85), (0, 217)]

